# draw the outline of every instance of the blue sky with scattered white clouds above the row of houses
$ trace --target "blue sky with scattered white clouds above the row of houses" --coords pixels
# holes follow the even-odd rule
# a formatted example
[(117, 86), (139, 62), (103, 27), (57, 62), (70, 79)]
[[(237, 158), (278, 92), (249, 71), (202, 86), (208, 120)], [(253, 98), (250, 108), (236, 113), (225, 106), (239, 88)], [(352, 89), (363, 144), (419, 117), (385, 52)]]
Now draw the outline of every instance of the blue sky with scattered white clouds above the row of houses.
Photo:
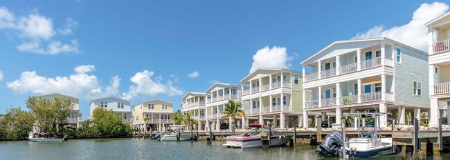
[(132, 105), (165, 99), (177, 110), (186, 92), (239, 83), (252, 64), (301, 70), (300, 61), (333, 41), (386, 36), (423, 48), (411, 41), (426, 36), (417, 24), (448, 9), (433, 1), (6, 0), (0, 112), (51, 92), (79, 97), (84, 118), (90, 99), (104, 96)]

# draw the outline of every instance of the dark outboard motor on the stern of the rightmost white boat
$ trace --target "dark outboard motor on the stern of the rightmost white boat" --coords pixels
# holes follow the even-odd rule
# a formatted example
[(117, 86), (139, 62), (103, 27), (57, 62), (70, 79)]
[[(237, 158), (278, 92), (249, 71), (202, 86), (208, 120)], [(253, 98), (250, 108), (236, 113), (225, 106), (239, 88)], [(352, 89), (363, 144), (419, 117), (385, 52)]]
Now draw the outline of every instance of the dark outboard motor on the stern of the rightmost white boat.
[(339, 156), (339, 149), (343, 146), (342, 133), (333, 130), (327, 136), (325, 136), (325, 143), (323, 145), (318, 145), (318, 154), (327, 157), (332, 155), (332, 157)]

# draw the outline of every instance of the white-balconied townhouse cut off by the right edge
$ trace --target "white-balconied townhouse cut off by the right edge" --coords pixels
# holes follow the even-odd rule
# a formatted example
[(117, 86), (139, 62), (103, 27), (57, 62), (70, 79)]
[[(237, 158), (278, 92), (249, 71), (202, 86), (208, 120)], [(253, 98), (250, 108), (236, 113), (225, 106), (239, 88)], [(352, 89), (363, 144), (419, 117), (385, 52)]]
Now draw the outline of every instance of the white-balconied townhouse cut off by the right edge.
[[(450, 13), (425, 24), (428, 27), (430, 123), (438, 124), (440, 110), (447, 109), (450, 121)], [(426, 86), (424, 86), (426, 87)], [(447, 106), (447, 108), (444, 108)]]

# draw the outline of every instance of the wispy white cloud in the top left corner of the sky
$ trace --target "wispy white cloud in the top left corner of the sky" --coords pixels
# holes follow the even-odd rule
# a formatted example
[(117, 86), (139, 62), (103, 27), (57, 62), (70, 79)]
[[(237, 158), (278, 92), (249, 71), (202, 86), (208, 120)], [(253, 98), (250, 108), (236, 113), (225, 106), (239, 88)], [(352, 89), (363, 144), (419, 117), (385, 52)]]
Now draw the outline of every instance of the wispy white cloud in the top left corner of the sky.
[(17, 37), (22, 43), (16, 48), (22, 52), (53, 55), (78, 53), (80, 50), (77, 39), (72, 39), (70, 43), (53, 39), (58, 33), (62, 36), (73, 34), (73, 28), (76, 27), (78, 27), (77, 21), (66, 18), (66, 23), (56, 32), (50, 17), (42, 16), (36, 11), (24, 17), (15, 17), (8, 8), (0, 6), (0, 29), (17, 32)]

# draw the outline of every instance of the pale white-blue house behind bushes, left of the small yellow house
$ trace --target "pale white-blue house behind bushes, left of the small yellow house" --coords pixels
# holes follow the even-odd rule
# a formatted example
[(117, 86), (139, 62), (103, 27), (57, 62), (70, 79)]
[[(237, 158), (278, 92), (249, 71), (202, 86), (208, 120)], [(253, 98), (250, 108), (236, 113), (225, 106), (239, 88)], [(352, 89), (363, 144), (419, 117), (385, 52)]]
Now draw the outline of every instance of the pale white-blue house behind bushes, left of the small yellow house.
[(89, 119), (92, 119), (93, 110), (100, 107), (112, 110), (114, 114), (122, 117), (123, 123), (132, 123), (132, 110), (129, 106), (129, 101), (117, 97), (105, 97), (100, 99), (93, 99), (90, 103)]

